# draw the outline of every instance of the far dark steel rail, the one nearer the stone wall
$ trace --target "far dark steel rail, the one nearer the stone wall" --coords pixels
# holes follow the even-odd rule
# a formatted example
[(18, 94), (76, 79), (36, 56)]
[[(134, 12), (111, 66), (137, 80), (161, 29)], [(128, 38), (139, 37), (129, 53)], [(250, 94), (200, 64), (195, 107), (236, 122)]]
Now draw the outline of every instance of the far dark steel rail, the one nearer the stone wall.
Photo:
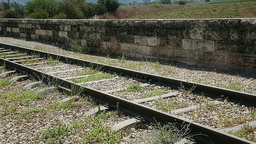
[(159, 76), (155, 74), (149, 74), (145, 72), (138, 72), (134, 70), (129, 70), (126, 68), (119, 68), (116, 66), (110, 66), (106, 64), (100, 64), (97, 62), (90, 62), (87, 60), (82, 60), (78, 58), (72, 58), (68, 56), (62, 56), (58, 54), (47, 53), (39, 50), (33, 50), (30, 48), (22, 48), (18, 46), (2, 44), (0, 43), (0, 47), (5, 47), (11, 50), (19, 50), (23, 52), (27, 52), (29, 54), (39, 54), (40, 57), (48, 57), (51, 56), (54, 59), (59, 59), (62, 62), (67, 62), (70, 64), (76, 64), (79, 66), (87, 66), (91, 68), (98, 68), (104, 72), (116, 73), (120, 76), (128, 76), (130, 78), (138, 79), (144, 82), (158, 84), (162, 86), (168, 86), (174, 89), (179, 89), (179, 86), (182, 84), (185, 88), (190, 89), (193, 85), (196, 85), (195, 89), (192, 92), (197, 94), (204, 94), (205, 96), (209, 96), (212, 98), (226, 98), (228, 100), (235, 103), (244, 104), (247, 106), (256, 107), (256, 94), (250, 94), (247, 92), (240, 92), (236, 90), (230, 90), (226, 88), (220, 88), (216, 86), (210, 86), (206, 84), (195, 84), (194, 82), (188, 82), (186, 80), (178, 80), (175, 78), (170, 78), (166, 76)]

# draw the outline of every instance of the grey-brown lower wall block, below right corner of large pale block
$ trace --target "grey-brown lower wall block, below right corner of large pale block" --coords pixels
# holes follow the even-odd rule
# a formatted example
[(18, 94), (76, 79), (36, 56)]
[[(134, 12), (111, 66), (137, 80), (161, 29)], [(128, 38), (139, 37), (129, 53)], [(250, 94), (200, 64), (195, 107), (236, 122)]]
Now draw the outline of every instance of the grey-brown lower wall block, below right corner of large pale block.
[(228, 55), (225, 53), (204, 52), (204, 62), (227, 65)]

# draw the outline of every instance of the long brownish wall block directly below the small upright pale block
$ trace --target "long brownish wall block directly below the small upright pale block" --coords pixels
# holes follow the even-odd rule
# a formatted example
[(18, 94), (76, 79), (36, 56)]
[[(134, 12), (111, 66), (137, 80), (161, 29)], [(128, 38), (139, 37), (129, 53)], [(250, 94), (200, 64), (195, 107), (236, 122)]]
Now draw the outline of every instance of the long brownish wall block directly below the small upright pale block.
[(203, 52), (192, 50), (174, 50), (174, 58), (192, 62), (203, 62)]

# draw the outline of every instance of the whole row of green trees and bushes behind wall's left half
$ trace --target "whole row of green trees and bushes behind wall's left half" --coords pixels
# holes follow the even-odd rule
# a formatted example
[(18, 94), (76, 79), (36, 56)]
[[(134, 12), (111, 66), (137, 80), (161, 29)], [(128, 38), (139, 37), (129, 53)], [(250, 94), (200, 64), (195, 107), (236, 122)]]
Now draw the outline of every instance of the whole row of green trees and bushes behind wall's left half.
[(114, 12), (119, 6), (118, 0), (98, 0), (96, 4), (86, 0), (32, 0), (25, 8), (12, 7), (2, 18), (87, 19)]

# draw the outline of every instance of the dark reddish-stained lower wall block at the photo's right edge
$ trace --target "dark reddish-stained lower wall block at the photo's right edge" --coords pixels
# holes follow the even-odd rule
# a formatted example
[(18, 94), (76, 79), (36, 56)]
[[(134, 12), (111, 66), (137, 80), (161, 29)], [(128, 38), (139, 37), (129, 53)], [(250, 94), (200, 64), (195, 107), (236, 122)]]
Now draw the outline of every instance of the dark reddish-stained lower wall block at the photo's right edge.
[(256, 68), (256, 56), (230, 54), (228, 56), (229, 66), (239, 66), (246, 68)]

